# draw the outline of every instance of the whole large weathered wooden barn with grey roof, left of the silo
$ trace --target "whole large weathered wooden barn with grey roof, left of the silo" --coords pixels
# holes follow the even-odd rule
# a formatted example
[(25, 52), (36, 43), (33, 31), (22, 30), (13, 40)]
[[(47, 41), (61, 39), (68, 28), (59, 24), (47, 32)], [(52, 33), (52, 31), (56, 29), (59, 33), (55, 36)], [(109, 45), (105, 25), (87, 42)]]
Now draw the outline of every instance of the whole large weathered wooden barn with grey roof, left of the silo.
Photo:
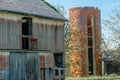
[(0, 0), (0, 80), (63, 80), (65, 21), (43, 0)]

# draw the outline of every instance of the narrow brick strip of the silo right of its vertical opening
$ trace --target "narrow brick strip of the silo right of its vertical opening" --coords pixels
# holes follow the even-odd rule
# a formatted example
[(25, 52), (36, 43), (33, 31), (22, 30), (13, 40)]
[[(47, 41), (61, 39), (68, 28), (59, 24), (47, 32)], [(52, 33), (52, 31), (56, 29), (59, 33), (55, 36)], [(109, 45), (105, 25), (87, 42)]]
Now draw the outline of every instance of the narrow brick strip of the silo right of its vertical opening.
[(100, 19), (100, 10), (95, 10), (95, 58), (96, 58), (96, 75), (102, 75), (102, 54), (100, 50), (101, 44), (101, 19)]

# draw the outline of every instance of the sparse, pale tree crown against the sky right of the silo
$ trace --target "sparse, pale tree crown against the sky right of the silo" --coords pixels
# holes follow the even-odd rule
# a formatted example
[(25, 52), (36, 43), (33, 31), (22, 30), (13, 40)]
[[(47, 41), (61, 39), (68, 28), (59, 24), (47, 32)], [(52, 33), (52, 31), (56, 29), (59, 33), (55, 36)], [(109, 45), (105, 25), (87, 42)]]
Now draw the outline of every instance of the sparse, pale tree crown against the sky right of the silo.
[(109, 19), (104, 20), (103, 23), (111, 32), (109, 37), (110, 44), (118, 47), (120, 44), (120, 6), (115, 8), (112, 15), (109, 15)]

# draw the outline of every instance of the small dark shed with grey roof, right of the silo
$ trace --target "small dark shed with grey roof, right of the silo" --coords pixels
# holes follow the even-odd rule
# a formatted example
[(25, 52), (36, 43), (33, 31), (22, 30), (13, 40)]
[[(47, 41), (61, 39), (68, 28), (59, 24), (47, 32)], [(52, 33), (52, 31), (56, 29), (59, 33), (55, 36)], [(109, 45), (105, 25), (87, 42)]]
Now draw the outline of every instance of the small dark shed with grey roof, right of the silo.
[(120, 56), (117, 54), (110, 51), (103, 52), (103, 75), (120, 75)]

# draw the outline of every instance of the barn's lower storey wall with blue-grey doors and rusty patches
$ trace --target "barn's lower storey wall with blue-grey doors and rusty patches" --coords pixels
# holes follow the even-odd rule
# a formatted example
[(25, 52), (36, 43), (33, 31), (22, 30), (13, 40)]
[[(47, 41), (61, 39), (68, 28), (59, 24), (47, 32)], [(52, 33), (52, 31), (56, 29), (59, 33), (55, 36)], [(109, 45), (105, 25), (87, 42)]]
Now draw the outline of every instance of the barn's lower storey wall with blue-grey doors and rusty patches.
[(0, 50), (0, 80), (61, 80), (64, 69), (54, 66), (49, 51)]

